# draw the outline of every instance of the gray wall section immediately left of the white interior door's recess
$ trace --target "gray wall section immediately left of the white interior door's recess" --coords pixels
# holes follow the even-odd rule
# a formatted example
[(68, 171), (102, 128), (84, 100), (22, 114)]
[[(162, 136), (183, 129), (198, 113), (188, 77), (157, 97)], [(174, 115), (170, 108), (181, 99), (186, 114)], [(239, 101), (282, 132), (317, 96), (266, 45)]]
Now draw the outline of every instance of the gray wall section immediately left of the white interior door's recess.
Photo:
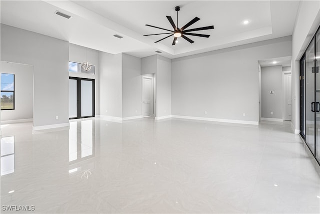
[(141, 60), (122, 54), (122, 117), (142, 115)]

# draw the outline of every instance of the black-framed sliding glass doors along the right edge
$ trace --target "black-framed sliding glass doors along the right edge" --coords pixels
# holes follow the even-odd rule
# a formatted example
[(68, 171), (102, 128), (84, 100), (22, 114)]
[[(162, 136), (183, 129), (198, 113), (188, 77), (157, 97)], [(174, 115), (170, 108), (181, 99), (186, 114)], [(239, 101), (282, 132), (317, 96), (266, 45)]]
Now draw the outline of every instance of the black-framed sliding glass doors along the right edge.
[(300, 135), (320, 164), (320, 30), (300, 59)]

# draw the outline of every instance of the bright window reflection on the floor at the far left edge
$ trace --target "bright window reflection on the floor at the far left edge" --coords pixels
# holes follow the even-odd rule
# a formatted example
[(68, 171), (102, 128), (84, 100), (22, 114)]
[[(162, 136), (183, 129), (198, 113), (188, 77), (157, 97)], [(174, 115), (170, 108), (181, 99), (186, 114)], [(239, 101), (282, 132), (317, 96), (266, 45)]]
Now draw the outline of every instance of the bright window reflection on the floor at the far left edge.
[(1, 137), (1, 176), (14, 172), (14, 136)]

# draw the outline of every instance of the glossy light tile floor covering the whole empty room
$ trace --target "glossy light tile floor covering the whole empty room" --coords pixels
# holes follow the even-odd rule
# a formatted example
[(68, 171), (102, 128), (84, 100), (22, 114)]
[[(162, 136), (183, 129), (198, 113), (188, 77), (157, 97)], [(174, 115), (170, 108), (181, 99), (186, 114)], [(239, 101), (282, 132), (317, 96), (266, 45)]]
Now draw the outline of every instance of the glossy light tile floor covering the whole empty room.
[(320, 212), (319, 166), (289, 123), (95, 118), (1, 133), (2, 213)]

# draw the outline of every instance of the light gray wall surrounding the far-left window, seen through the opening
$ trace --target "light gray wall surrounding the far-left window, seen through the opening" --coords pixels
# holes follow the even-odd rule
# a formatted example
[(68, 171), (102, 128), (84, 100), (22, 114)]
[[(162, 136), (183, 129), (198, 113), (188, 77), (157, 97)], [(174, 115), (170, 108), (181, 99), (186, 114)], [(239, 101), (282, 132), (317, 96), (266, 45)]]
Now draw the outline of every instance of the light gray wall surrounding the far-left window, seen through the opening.
[(33, 66), (1, 61), (1, 73), (14, 74), (14, 110), (1, 111), (1, 121), (32, 119)]

